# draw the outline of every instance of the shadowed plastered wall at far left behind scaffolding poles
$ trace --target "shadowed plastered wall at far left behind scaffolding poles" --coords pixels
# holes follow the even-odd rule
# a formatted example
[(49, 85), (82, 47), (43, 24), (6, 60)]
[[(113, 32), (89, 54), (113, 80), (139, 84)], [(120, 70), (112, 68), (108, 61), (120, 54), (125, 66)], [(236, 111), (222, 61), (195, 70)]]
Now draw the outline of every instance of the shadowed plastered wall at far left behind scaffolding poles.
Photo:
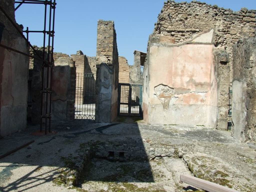
[[(1, 0), (1, 7), (14, 23), (14, 1)], [(29, 53), (26, 41), (0, 11), (0, 22), (5, 26), (1, 44)], [(23, 28), (18, 26), (22, 31)], [(5, 136), (25, 129), (27, 124), (29, 58), (0, 47), (0, 135)]]

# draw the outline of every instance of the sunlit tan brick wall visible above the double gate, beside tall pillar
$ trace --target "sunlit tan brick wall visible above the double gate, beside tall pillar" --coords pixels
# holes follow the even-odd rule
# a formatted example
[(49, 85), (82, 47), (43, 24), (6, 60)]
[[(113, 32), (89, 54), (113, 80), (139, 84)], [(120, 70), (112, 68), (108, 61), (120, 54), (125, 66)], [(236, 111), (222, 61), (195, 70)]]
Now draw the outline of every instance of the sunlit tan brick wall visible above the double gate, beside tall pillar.
[(130, 67), (125, 57), (119, 57), (119, 83), (129, 83)]

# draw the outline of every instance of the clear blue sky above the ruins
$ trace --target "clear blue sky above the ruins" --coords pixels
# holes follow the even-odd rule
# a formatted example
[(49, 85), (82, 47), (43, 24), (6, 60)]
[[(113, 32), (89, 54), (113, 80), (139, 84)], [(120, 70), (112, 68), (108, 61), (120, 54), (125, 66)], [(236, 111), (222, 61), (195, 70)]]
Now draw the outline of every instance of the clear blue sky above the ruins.
[[(256, 9), (256, 0), (201, 2), (234, 11), (242, 7)], [(126, 57), (129, 65), (133, 65), (134, 50), (147, 50), (148, 36), (153, 32), (164, 0), (56, 0), (56, 3), (55, 52), (70, 55), (82, 50), (87, 56), (96, 56), (97, 21), (113, 20), (119, 56)], [(16, 21), (24, 29), (43, 30), (44, 6), (23, 4), (16, 11)], [(42, 35), (31, 34), (29, 41), (32, 45), (42, 46)]]

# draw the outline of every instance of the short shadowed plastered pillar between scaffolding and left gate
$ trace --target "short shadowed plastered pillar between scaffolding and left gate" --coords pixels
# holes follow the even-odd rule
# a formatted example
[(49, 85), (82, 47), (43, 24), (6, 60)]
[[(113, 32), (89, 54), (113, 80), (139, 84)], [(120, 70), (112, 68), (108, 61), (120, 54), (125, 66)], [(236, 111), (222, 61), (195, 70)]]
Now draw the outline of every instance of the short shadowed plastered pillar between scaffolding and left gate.
[(75, 114), (76, 67), (70, 57), (59, 57), (52, 71), (52, 120), (72, 121)]

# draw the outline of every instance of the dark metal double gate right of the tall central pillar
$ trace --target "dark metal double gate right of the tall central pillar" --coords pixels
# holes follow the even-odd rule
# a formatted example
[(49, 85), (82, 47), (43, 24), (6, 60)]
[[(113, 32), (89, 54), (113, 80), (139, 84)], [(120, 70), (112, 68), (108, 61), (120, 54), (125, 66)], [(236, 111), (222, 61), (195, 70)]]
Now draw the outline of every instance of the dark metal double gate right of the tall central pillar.
[(142, 85), (119, 83), (118, 115), (142, 116)]

